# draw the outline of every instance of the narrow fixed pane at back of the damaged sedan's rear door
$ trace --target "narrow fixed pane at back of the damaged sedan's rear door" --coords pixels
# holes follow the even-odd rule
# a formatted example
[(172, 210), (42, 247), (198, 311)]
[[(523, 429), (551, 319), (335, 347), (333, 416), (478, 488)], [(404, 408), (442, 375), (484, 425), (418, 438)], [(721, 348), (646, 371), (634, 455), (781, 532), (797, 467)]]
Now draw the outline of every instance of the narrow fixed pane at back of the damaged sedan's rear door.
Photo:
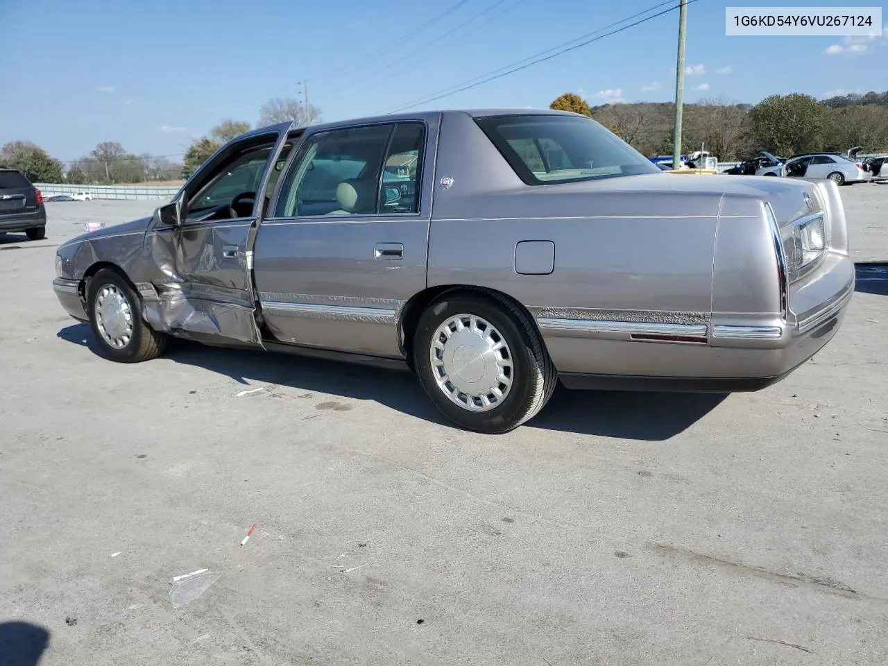
[(425, 128), (421, 123), (400, 123), (395, 127), (385, 155), (380, 213), (419, 211)]

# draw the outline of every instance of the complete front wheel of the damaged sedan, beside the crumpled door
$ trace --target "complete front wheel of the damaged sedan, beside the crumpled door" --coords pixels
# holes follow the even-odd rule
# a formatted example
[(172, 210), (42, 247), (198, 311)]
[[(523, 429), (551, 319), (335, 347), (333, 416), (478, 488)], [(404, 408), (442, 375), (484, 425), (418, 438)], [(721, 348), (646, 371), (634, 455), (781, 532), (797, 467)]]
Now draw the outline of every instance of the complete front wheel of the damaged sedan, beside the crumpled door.
[(107, 358), (138, 363), (163, 353), (166, 336), (142, 320), (139, 296), (121, 274), (108, 268), (95, 274), (87, 304), (92, 332)]

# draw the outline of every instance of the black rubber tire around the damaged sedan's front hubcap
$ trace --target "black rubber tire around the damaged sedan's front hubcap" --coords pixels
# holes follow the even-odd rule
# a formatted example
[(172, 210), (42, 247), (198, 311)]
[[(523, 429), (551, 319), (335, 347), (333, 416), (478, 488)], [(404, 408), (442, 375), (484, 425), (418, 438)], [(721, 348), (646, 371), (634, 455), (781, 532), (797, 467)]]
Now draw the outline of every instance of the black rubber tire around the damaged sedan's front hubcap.
[[(96, 300), (99, 291), (106, 285), (114, 285), (130, 305), (132, 316), (132, 335), (129, 341), (122, 347), (115, 347), (107, 342), (99, 329), (96, 318)], [(142, 319), (142, 308), (139, 295), (130, 286), (123, 276), (110, 268), (103, 268), (92, 276), (87, 292), (87, 313), (90, 316), (92, 334), (101, 347), (102, 355), (111, 361), (119, 363), (139, 363), (150, 361), (160, 356), (167, 343), (167, 337), (158, 333)]]

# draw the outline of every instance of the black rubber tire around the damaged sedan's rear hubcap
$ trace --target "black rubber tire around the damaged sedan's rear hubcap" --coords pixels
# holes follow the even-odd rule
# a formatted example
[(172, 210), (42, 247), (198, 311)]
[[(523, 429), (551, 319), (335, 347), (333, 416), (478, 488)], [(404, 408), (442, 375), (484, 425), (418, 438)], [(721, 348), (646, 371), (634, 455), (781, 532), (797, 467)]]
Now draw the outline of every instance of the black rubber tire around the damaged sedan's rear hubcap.
[[(488, 411), (470, 411), (448, 398), (435, 379), (430, 351), (435, 331), (459, 314), (480, 317), (496, 328), (511, 351), (511, 389)], [(496, 292), (452, 291), (429, 305), (413, 338), (413, 363), (426, 395), (455, 424), (473, 432), (498, 434), (525, 423), (551, 398), (558, 375), (533, 322), (517, 305)]]

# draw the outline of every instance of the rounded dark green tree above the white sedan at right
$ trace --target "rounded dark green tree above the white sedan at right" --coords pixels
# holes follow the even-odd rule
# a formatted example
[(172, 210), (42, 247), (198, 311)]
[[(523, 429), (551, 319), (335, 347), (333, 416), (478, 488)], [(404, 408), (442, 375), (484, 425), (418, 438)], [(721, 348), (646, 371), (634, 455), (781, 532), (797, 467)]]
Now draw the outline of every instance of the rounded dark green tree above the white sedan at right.
[(775, 155), (821, 150), (827, 109), (808, 95), (772, 95), (749, 109), (759, 147)]

